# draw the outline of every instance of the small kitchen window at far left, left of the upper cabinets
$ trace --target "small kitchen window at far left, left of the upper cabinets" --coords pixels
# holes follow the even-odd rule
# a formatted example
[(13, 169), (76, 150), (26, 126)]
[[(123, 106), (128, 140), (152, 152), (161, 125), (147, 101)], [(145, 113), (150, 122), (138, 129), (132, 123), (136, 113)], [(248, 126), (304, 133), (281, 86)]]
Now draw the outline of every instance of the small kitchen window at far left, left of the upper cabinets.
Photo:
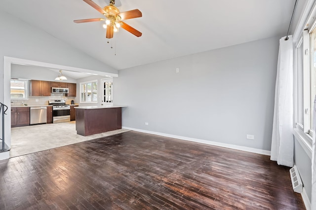
[(28, 80), (11, 79), (11, 99), (28, 99)]

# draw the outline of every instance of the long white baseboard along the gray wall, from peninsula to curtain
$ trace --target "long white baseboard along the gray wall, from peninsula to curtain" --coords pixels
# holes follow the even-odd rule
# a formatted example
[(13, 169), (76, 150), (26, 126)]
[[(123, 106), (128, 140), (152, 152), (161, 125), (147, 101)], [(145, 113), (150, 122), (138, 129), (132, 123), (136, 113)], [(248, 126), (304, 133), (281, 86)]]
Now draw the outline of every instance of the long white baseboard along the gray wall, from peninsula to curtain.
[(142, 132), (142, 133), (149, 133), (149, 134), (154, 134), (154, 135), (158, 135), (158, 136), (164, 136), (164, 137), (169, 137), (169, 138), (174, 138), (174, 139), (197, 142), (197, 143), (213, 145), (213, 146), (218, 146), (218, 147), (224, 147), (224, 148), (229, 148), (229, 149), (234, 149), (234, 150), (249, 151), (249, 152), (253, 152), (253, 153), (257, 153), (257, 154), (264, 154), (264, 155), (269, 155), (269, 156), (271, 155), (271, 151), (269, 151), (269, 150), (259, 150), (259, 149), (255, 149), (255, 148), (225, 144), (225, 143), (220, 143), (220, 142), (206, 141), (206, 140), (202, 140), (202, 139), (194, 139), (194, 138), (189, 138), (189, 137), (184, 137), (184, 136), (159, 133), (159, 132), (155, 132), (155, 131), (142, 130), (142, 129), (131, 128), (131, 127), (122, 127), (122, 128), (128, 129), (128, 130), (134, 130), (134, 131), (138, 131), (138, 132)]

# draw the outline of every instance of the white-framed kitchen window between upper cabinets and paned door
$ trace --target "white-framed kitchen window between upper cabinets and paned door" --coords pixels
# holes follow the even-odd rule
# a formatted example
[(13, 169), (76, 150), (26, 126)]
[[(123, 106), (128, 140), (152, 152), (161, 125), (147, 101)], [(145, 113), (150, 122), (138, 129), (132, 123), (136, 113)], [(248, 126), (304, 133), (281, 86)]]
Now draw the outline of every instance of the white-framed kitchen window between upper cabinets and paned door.
[(80, 103), (98, 103), (98, 81), (80, 83)]

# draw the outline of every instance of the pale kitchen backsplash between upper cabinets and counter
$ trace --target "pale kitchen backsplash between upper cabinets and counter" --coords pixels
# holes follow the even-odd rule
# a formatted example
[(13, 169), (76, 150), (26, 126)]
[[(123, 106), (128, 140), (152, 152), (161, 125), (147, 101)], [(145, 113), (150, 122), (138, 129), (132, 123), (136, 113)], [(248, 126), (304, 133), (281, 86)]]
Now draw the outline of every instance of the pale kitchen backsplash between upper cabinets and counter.
[(27, 106), (45, 106), (48, 105), (48, 100), (60, 100), (65, 99), (66, 104), (71, 104), (71, 100), (74, 100), (76, 97), (66, 97), (64, 93), (51, 93), (51, 96), (29, 96), (26, 100), (12, 100), (11, 106), (22, 106), (27, 104)]

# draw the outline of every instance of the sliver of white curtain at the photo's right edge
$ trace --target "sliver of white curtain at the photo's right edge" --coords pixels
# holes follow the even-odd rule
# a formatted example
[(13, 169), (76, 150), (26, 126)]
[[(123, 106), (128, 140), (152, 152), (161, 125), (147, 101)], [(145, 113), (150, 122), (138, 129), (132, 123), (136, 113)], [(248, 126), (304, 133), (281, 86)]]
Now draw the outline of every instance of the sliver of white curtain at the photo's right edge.
[[(313, 130), (316, 131), (316, 96), (314, 100), (314, 115), (313, 115)], [(312, 200), (311, 209), (316, 210), (316, 132), (313, 135), (313, 146), (312, 146)]]

